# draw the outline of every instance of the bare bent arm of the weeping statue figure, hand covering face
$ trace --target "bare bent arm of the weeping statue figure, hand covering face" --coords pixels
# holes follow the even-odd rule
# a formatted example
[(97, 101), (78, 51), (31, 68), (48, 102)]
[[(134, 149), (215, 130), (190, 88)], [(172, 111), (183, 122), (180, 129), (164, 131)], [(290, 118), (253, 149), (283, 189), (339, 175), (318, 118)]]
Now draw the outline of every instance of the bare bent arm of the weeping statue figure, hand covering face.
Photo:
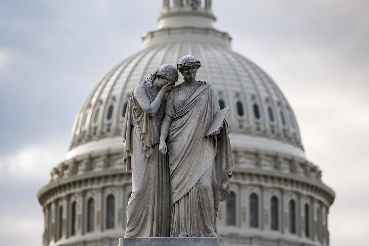
[(141, 106), (142, 110), (146, 113), (148, 116), (154, 116), (156, 112), (158, 112), (161, 101), (163, 100), (163, 97), (165, 93), (169, 92), (171, 89), (173, 89), (174, 83), (168, 83), (164, 85), (160, 92), (158, 93), (158, 96), (154, 99), (154, 101), (150, 102), (150, 99), (147, 96), (146, 89), (144, 88), (144, 85), (138, 85), (133, 95), (135, 96), (135, 99), (137, 100), (139, 106)]

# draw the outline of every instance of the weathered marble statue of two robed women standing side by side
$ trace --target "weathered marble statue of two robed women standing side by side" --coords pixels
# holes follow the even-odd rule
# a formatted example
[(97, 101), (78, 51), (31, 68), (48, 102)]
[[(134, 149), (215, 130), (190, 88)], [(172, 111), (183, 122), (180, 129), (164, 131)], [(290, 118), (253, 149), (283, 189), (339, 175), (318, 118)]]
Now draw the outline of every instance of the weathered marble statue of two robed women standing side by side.
[[(206, 237), (216, 232), (218, 205), (229, 196), (233, 159), (225, 115), (201, 63), (162, 65), (128, 100), (122, 136), (132, 170), (124, 238)], [(168, 92), (168, 94), (166, 94)]]

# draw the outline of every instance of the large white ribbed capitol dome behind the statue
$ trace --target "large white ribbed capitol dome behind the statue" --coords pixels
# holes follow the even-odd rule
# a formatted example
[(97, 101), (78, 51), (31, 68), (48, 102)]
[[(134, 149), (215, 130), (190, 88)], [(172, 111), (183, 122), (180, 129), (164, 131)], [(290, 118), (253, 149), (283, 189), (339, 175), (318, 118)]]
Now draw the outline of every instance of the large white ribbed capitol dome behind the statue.
[(80, 108), (66, 160), (38, 192), (44, 245), (117, 245), (131, 192), (120, 137), (128, 97), (157, 67), (176, 65), (184, 55), (201, 61), (196, 78), (211, 83), (221, 108), (231, 106), (235, 169), (231, 195), (218, 211), (221, 244), (328, 245), (335, 195), (306, 159), (293, 110), (276, 83), (213, 27), (210, 0), (164, 0), (158, 20), (141, 51), (114, 66)]

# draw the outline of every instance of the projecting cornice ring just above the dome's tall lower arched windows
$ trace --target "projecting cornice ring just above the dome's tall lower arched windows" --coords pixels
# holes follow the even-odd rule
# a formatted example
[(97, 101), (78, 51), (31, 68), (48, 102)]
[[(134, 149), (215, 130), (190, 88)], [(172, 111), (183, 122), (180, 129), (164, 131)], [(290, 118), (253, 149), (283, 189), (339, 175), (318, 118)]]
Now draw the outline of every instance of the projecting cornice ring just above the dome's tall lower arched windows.
[[(121, 169), (107, 169), (100, 172), (90, 172), (84, 175), (51, 182), (38, 192), (38, 199), (42, 206), (55, 201), (55, 199), (71, 195), (70, 199), (76, 198), (76, 192), (89, 191), (91, 189), (107, 188), (122, 189), (131, 185), (131, 173)], [(231, 185), (248, 185), (264, 187), (275, 193), (280, 190), (314, 197), (326, 206), (330, 206), (334, 200), (334, 192), (321, 182), (308, 180), (306, 178), (286, 175), (260, 168), (235, 168)], [(110, 187), (110, 188), (109, 188)], [(115, 193), (115, 192), (114, 192)], [(52, 203), (53, 204), (53, 203)]]

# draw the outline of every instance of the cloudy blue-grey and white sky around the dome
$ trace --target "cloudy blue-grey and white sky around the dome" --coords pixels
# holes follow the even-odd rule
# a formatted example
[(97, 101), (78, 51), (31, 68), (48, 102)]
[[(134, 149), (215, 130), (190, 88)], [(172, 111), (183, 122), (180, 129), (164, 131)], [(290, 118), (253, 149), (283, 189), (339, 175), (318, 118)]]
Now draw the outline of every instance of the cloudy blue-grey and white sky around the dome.
[[(0, 1), (1, 245), (41, 245), (37, 190), (87, 93), (139, 50), (161, 2)], [(368, 245), (369, 1), (214, 0), (213, 12), (293, 107), (308, 160), (337, 194), (331, 245)]]

